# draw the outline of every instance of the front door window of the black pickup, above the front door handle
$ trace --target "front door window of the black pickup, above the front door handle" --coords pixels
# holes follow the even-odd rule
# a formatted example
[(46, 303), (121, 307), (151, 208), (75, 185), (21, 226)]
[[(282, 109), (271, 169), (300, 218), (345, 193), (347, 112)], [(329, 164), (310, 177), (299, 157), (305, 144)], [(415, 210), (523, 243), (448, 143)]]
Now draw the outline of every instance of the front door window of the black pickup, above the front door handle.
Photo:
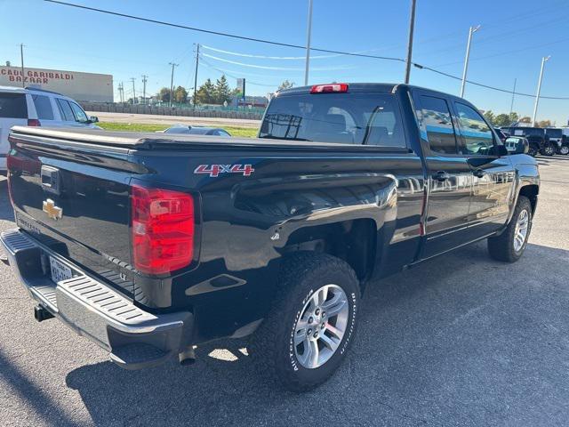
[(455, 102), (464, 141), (464, 154), (488, 154), (494, 145), (493, 133), (476, 109)]

